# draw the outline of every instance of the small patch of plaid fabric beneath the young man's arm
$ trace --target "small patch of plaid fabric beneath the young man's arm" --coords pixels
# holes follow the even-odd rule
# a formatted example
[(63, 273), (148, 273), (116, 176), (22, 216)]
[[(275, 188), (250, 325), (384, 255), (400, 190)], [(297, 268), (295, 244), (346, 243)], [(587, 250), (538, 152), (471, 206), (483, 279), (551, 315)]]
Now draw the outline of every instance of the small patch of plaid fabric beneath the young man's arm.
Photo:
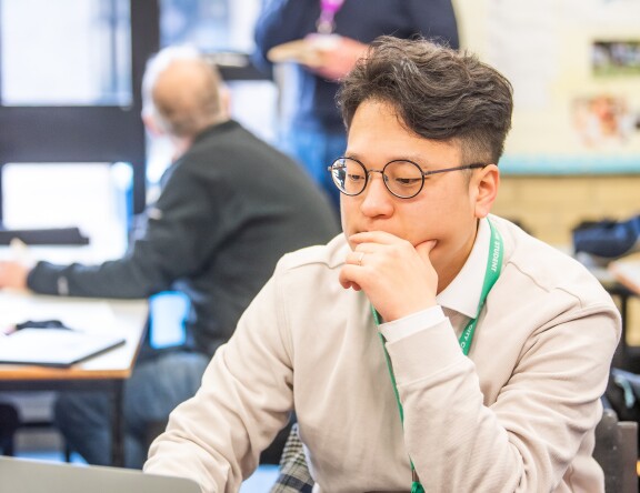
[(298, 423), (291, 426), (282, 457), (280, 459), (280, 474), (270, 493), (311, 493), (313, 479), (307, 467), (307, 459), (302, 442), (298, 435)]

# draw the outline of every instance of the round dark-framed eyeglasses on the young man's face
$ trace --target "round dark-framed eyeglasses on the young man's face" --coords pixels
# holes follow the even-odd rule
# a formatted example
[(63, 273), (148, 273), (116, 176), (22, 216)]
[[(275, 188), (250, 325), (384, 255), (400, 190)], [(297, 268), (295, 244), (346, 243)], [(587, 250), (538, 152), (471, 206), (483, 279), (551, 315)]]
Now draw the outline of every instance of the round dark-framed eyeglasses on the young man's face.
[(368, 170), (360, 161), (353, 158), (338, 158), (328, 168), (333, 183), (346, 195), (359, 195), (369, 183), (371, 173), (380, 173), (387, 190), (399, 199), (411, 199), (424, 187), (424, 177), (446, 173), (448, 171), (476, 170), (488, 164), (474, 163), (464, 167), (444, 168), (442, 170), (422, 171), (413, 161), (389, 161), (381, 170)]

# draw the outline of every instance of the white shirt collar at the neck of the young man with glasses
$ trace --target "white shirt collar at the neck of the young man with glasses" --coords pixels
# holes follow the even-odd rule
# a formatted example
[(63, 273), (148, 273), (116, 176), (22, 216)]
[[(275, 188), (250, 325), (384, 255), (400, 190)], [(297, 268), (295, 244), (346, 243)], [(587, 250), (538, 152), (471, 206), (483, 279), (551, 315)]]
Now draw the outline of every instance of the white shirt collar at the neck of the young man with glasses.
[(476, 242), (467, 262), (444, 291), (436, 296), (439, 305), (454, 310), (470, 319), (476, 318), (487, 269), (490, 235), (489, 221), (483, 218), (479, 221)]

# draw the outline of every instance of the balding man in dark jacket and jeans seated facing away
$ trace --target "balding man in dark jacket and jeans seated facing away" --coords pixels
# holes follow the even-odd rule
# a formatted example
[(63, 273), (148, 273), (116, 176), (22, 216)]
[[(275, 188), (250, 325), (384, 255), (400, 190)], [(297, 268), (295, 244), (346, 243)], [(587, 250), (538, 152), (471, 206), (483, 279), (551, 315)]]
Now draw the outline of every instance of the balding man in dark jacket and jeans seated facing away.
[[(286, 252), (326, 242), (338, 231), (333, 212), (290, 158), (227, 113), (216, 68), (197, 51), (168, 48), (149, 63), (143, 119), (167, 133), (179, 158), (162, 179), (146, 231), (121, 259), (100, 265), (33, 269), (0, 263), (0, 288), (39, 293), (146, 298), (168, 289), (191, 302), (184, 344), (146, 348), (124, 383), (126, 464), (141, 467), (150, 424), (190, 398), (210, 358)], [(62, 394), (56, 422), (91, 464), (110, 457), (107, 396)]]

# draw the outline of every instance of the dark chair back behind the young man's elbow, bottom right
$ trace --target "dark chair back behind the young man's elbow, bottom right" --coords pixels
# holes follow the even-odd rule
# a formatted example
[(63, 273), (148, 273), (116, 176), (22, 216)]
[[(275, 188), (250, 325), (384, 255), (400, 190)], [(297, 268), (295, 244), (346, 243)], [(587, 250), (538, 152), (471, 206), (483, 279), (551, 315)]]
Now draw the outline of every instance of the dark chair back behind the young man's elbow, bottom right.
[(596, 427), (593, 457), (604, 471), (607, 493), (638, 493), (638, 423), (618, 421), (616, 411), (606, 409)]

